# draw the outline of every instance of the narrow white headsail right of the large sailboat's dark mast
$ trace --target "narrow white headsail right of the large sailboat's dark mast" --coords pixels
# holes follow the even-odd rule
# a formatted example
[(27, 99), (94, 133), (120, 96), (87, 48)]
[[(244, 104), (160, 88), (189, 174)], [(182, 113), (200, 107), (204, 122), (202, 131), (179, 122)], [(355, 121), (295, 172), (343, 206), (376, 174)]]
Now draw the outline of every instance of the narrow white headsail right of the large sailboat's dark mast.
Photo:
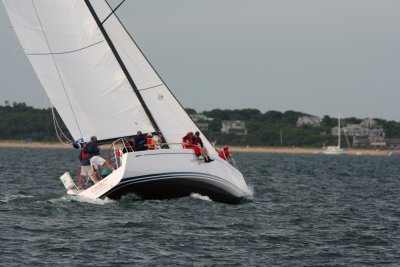
[[(183, 135), (188, 131), (199, 131), (196, 124), (190, 119), (125, 30), (118, 17), (115, 14), (109, 16), (112, 13), (112, 9), (107, 4), (107, 1), (91, 1), (91, 3), (100, 20), (107, 19), (103, 26), (127, 66), (166, 141), (169, 143), (181, 143)], [(205, 146), (213, 154), (215, 149), (205, 139), (203, 138)], [(171, 147), (174, 146), (181, 147), (180, 145), (171, 145)]]

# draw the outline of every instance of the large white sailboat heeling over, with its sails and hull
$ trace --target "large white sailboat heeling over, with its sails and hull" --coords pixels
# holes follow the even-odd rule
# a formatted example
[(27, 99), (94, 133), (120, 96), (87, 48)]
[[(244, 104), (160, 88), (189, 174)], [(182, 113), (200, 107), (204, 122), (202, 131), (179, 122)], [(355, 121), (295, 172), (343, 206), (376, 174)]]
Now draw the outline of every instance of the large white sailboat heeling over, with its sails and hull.
[[(96, 135), (116, 168), (86, 190), (66, 172), (69, 194), (91, 199), (170, 199), (192, 193), (224, 203), (251, 196), (242, 173), (218, 157), (198, 160), (182, 137), (201, 132), (126, 31), (106, 0), (3, 0), (13, 29), (51, 103), (74, 140)], [(127, 150), (138, 131), (162, 136), (162, 148)]]

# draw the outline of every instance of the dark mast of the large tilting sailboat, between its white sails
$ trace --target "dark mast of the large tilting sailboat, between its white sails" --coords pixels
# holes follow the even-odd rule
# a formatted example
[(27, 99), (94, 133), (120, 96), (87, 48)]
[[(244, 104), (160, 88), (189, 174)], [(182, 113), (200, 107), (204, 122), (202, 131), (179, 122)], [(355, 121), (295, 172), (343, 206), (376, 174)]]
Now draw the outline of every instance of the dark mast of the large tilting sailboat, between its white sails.
[[(138, 88), (137, 88), (135, 82), (133, 81), (131, 75), (129, 74), (128, 69), (126, 68), (124, 62), (122, 61), (120, 55), (118, 54), (117, 49), (115, 48), (113, 42), (111, 41), (111, 38), (109, 37), (109, 35), (108, 35), (107, 31), (105, 30), (105, 28), (104, 28), (102, 22), (100, 21), (99, 17), (97, 16), (96, 11), (94, 10), (92, 4), (90, 3), (90, 0), (85, 0), (85, 3), (86, 3), (86, 5), (87, 5), (87, 7), (88, 7), (90, 13), (92, 14), (94, 20), (96, 21), (97, 26), (99, 27), (99, 29), (100, 29), (101, 33), (103, 34), (105, 40), (107, 41), (107, 44), (109, 45), (109, 47), (110, 47), (112, 53), (114, 54), (115, 58), (117, 59), (118, 64), (121, 66), (121, 69), (122, 69), (122, 71), (124, 72), (126, 78), (128, 79), (129, 84), (132, 86), (133, 91), (135, 92), (135, 94), (136, 94), (136, 96), (137, 96), (137, 98), (138, 98), (140, 104), (142, 105), (142, 107), (143, 107), (143, 109), (144, 109), (146, 115), (148, 116), (148, 118), (149, 118), (149, 120), (150, 120), (150, 122), (151, 122), (153, 128), (154, 128), (157, 132), (161, 132), (161, 131), (160, 131), (160, 128), (158, 127), (158, 125), (157, 125), (157, 123), (156, 123), (156, 121), (155, 121), (155, 119), (154, 119), (154, 117), (153, 117), (153, 115), (151, 114), (149, 108), (147, 107), (145, 101), (143, 100), (143, 97), (142, 97), (142, 95), (140, 94), (140, 92), (139, 92), (139, 90), (138, 90)], [(162, 137), (162, 138), (164, 139), (164, 137)], [(163, 140), (163, 142), (164, 142), (164, 140)]]

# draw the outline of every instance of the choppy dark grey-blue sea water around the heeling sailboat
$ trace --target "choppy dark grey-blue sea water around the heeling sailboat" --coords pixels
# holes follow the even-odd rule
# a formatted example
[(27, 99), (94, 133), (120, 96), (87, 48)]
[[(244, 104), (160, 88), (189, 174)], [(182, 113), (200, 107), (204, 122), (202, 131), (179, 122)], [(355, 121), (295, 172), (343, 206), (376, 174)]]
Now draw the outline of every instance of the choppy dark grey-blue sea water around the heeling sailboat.
[(399, 266), (400, 156), (237, 153), (254, 197), (85, 201), (77, 152), (0, 149), (0, 266)]

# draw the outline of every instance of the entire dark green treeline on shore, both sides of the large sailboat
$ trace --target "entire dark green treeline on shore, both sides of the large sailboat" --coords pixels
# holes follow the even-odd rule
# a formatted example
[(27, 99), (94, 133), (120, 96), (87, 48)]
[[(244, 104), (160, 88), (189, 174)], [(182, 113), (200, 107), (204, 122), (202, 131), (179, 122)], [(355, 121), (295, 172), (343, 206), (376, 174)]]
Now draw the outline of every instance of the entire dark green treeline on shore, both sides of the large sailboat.
[[(188, 113), (197, 113), (194, 109), (186, 109)], [(331, 135), (331, 129), (337, 126), (337, 118), (324, 116), (319, 127), (297, 127), (297, 119), (308, 114), (296, 111), (267, 111), (257, 109), (221, 110), (214, 109), (202, 112), (211, 121), (209, 130), (204, 134), (217, 144), (249, 145), (249, 146), (315, 146), (336, 144), (337, 137)], [(68, 130), (56, 113), (64, 133)], [(246, 123), (247, 135), (221, 133), (223, 120), (243, 120)], [(384, 129), (386, 137), (400, 138), (400, 122), (375, 119)], [(358, 124), (362, 119), (345, 118), (343, 124)], [(201, 122), (201, 121), (200, 121)], [(34, 141), (57, 141), (50, 108), (37, 109), (25, 103), (7, 101), (0, 106), (0, 139), (21, 140), (32, 138)], [(352, 140), (349, 139), (351, 144)], [(343, 137), (343, 145), (346, 139)]]

